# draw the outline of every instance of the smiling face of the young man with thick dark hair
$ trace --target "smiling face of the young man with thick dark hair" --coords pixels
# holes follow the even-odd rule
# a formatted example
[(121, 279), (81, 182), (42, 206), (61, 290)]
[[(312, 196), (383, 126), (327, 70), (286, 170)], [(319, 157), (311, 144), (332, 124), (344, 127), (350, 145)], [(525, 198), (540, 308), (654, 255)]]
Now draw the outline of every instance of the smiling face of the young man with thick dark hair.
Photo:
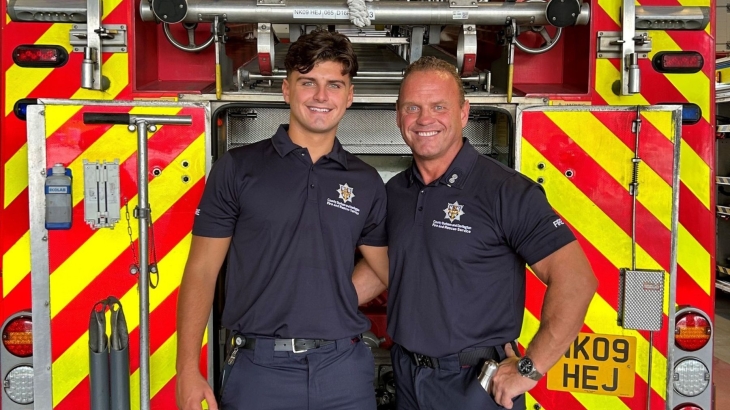
[(335, 137), (353, 96), (352, 81), (342, 71), (341, 63), (323, 61), (306, 74), (294, 70), (284, 80), (281, 90), (291, 109), (289, 135)]

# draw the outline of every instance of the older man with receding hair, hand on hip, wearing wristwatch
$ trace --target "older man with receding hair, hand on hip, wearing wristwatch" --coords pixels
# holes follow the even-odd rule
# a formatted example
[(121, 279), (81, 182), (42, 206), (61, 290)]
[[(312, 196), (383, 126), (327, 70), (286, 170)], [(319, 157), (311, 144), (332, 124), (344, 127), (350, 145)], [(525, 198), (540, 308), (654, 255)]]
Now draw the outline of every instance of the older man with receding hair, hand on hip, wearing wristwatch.
[[(397, 124), (414, 164), (386, 185), (399, 410), (524, 409), (523, 393), (575, 339), (597, 284), (540, 185), (462, 137), (468, 118), (454, 66), (424, 57), (406, 69)], [(526, 263), (547, 291), (540, 329), (518, 358), (510, 342), (522, 326)], [(501, 362), (489, 393), (477, 381), (486, 359)]]

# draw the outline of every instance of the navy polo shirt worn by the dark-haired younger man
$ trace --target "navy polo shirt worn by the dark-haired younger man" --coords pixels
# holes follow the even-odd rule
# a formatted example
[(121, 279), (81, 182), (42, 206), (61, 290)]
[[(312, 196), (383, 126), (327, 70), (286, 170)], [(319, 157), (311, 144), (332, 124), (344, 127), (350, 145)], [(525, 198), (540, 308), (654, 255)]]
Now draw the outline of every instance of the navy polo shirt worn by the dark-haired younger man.
[(383, 181), (337, 140), (312, 164), (287, 130), (228, 151), (208, 177), (193, 234), (233, 237), (222, 324), (278, 338), (362, 333), (354, 253), (387, 243)]

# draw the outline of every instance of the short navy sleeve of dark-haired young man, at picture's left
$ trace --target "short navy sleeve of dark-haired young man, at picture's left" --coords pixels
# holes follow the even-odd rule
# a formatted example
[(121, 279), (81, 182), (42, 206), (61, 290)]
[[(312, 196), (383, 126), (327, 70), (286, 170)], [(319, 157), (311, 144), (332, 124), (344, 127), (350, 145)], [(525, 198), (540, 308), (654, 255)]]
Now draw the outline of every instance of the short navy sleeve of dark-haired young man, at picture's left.
[(203, 197), (195, 211), (193, 235), (210, 238), (233, 236), (239, 215), (239, 177), (230, 152), (214, 164)]

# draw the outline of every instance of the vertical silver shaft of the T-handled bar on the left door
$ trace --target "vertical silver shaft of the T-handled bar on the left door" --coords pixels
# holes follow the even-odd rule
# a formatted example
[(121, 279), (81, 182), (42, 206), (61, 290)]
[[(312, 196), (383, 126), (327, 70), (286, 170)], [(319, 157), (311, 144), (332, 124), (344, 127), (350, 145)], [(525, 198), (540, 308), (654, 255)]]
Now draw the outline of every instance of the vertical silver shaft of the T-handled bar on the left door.
[(147, 182), (147, 121), (137, 118), (137, 220), (139, 221), (139, 401), (150, 408), (150, 288), (149, 288), (149, 199)]

